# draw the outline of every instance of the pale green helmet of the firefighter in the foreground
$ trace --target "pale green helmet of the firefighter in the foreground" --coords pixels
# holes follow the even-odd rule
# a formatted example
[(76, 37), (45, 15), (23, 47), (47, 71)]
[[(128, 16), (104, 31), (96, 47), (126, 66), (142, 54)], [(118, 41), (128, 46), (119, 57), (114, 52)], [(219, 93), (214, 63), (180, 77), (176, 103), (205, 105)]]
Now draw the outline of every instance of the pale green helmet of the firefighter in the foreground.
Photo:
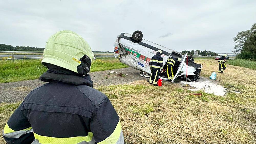
[(94, 54), (89, 44), (70, 30), (58, 31), (46, 42), (44, 58), (41, 61), (74, 71), (79, 74), (90, 72)]

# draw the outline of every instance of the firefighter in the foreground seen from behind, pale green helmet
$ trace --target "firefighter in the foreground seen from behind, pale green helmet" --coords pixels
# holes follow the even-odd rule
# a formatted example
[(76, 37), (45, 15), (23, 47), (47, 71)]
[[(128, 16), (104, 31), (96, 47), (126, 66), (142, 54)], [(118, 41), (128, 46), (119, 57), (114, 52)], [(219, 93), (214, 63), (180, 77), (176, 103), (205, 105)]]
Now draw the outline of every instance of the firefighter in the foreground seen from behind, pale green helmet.
[(40, 76), (6, 123), (7, 143), (124, 143), (110, 100), (92, 88), (88, 74), (94, 54), (78, 34), (63, 30), (46, 42)]

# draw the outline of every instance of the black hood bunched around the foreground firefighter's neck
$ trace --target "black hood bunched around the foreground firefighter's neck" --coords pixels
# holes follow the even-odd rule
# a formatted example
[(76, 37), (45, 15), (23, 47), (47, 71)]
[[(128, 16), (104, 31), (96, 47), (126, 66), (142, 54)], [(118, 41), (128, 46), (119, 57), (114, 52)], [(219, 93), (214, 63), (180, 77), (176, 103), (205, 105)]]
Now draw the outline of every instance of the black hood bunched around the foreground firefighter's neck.
[(53, 64), (46, 64), (48, 70), (43, 73), (39, 80), (44, 82), (60, 81), (74, 85), (87, 85), (92, 87), (93, 81), (89, 74), (81, 75), (68, 69)]

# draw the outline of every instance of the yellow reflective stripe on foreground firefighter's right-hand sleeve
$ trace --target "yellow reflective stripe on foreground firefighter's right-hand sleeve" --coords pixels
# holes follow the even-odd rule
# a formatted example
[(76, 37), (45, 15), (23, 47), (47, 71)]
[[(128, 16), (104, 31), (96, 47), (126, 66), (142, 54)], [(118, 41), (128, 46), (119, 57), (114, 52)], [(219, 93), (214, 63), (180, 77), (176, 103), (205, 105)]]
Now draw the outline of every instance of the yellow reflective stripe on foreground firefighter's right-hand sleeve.
[(106, 139), (104, 139), (101, 142), (98, 142), (98, 144), (108, 144), (108, 143), (116, 143), (120, 137), (121, 134), (121, 124), (120, 121), (118, 122), (117, 126), (115, 127), (115, 130), (113, 133)]

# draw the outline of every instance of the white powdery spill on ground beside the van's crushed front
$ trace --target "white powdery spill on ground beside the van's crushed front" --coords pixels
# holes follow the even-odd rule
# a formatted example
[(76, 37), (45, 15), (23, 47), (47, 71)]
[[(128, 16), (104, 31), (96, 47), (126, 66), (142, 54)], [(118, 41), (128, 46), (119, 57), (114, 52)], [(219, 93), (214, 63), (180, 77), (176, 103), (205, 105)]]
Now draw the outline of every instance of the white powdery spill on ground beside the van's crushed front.
[[(183, 85), (186, 85), (186, 81), (180, 81)], [(206, 93), (213, 93), (215, 95), (224, 96), (226, 94), (226, 88), (217, 84), (216, 81), (201, 77), (196, 82), (188, 82), (191, 87), (188, 90), (198, 91), (203, 90)]]

